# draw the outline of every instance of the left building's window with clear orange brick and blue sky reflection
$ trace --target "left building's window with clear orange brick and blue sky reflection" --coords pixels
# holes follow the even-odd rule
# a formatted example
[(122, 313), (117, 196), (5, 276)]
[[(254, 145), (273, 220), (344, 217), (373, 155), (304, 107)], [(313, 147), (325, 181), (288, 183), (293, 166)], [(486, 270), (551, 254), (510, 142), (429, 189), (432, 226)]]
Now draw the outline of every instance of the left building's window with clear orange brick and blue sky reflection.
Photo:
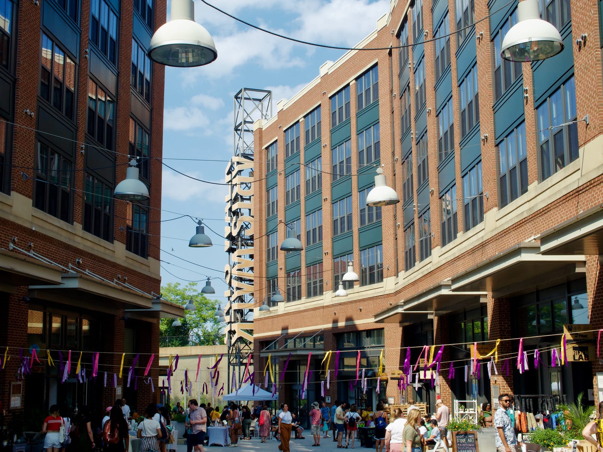
[(44, 33), (42, 33), (40, 97), (73, 121), (75, 62)]

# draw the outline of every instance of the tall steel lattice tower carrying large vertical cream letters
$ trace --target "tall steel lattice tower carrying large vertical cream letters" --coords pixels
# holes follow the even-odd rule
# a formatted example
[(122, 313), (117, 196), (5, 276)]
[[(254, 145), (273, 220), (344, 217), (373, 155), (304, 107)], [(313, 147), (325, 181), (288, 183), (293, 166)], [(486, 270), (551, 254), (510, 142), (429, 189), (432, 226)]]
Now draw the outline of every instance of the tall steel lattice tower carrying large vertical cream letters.
[(233, 391), (233, 375), (241, 385), (247, 357), (253, 353), (253, 123), (272, 116), (272, 92), (241, 89), (235, 95), (234, 113), (234, 152), (226, 168), (230, 186), (224, 228), (225, 251), (229, 254), (225, 273), (230, 286), (224, 293), (229, 392)]

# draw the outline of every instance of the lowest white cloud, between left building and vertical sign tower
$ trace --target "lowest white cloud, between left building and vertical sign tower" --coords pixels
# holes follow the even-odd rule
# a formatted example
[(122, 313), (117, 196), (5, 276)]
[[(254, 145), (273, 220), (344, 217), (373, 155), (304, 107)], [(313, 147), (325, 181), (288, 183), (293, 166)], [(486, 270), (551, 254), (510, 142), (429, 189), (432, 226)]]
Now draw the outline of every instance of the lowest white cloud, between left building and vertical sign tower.
[[(207, 180), (198, 172), (186, 172), (186, 174), (199, 179)], [(222, 180), (211, 180), (211, 182), (224, 183)], [(198, 201), (207, 203), (224, 204), (224, 196), (228, 194), (228, 187), (224, 185), (207, 184), (195, 181), (191, 178), (178, 174), (171, 169), (164, 169), (162, 173), (162, 199), (172, 201)]]

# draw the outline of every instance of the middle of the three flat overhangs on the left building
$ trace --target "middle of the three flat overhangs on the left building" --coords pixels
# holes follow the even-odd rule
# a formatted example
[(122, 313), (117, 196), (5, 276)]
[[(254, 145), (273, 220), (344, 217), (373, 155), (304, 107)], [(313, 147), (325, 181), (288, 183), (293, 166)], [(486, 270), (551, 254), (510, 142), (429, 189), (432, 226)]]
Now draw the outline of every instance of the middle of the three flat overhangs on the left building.
[(30, 298), (115, 314), (119, 309), (153, 308), (154, 298), (86, 274), (63, 274), (60, 286), (32, 285)]

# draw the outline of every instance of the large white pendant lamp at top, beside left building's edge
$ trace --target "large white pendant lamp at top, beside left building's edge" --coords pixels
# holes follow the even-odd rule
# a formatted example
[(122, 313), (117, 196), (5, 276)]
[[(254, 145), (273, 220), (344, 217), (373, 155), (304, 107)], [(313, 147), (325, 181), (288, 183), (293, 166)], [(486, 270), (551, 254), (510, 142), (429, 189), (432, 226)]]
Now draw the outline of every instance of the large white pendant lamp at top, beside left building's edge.
[(165, 66), (194, 67), (218, 58), (212, 36), (195, 22), (193, 0), (172, 0), (170, 17), (151, 38), (151, 60)]

